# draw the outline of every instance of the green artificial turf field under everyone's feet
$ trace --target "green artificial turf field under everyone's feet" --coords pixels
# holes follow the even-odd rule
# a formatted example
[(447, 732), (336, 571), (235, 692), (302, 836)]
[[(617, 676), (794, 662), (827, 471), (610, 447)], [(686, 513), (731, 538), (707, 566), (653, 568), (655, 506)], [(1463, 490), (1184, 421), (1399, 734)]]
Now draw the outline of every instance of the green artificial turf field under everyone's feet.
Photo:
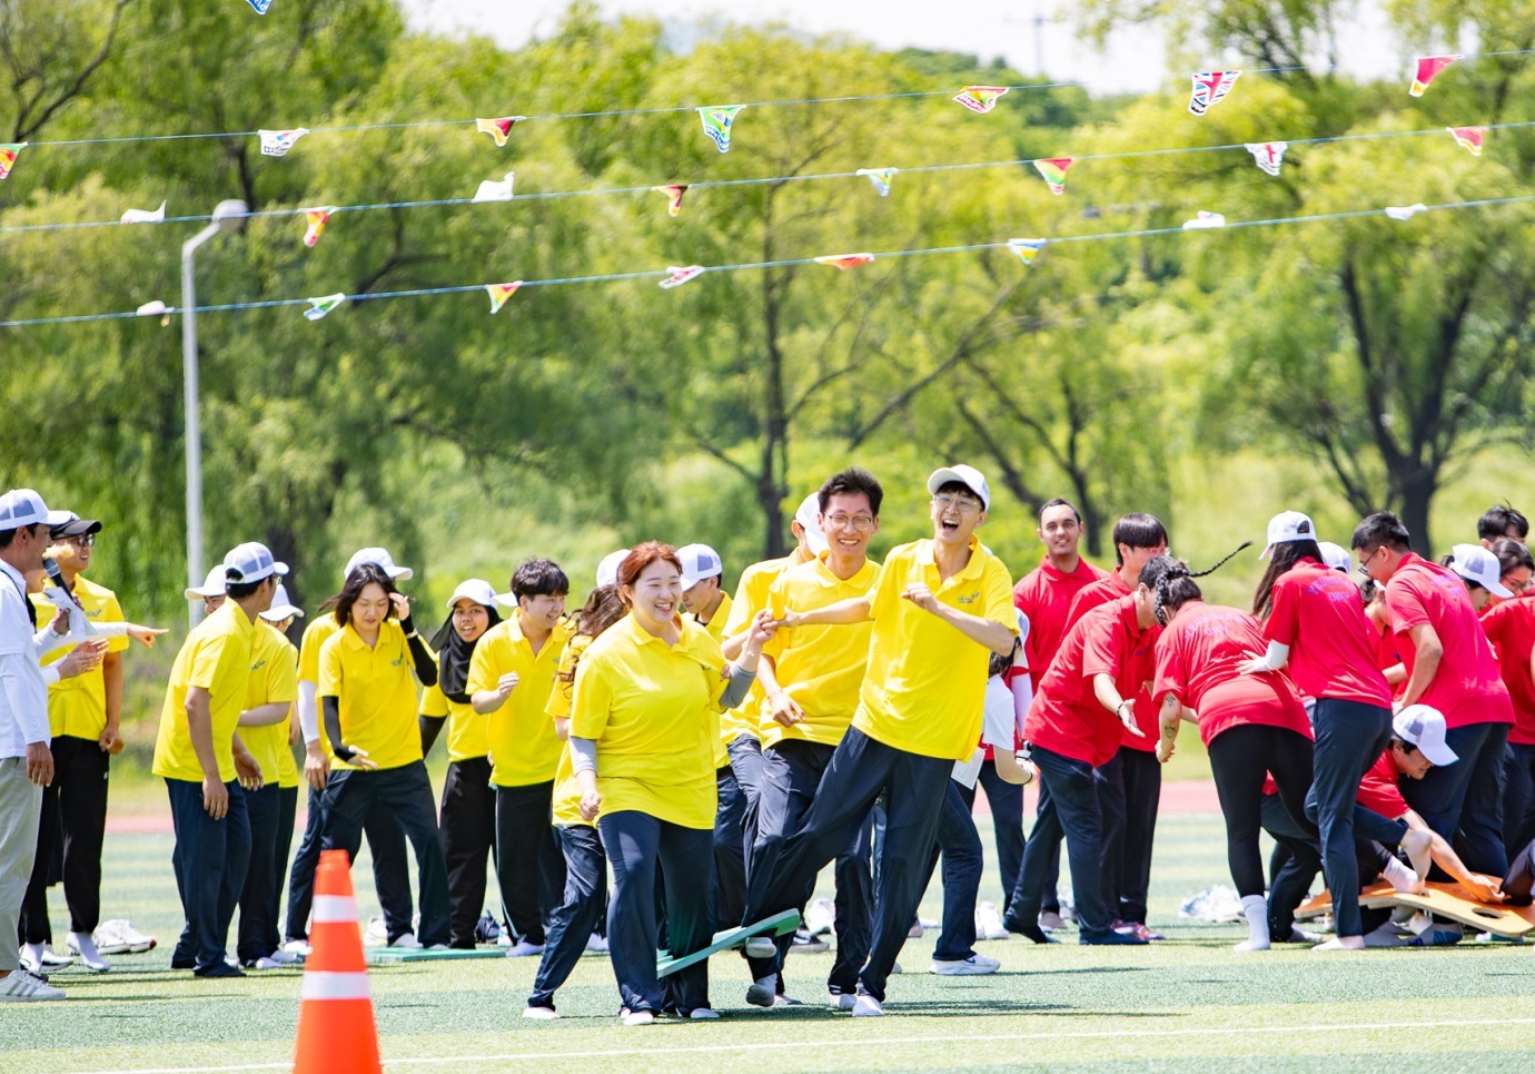
[[(170, 971), (180, 907), (169, 859), (169, 836), (109, 836), (104, 914), (161, 943), (115, 957), (104, 976), (57, 973), (66, 1002), (0, 1008), (0, 1071), (287, 1068), (299, 973), (200, 982)], [(365, 857), (353, 876), (362, 911), (378, 913)], [(1220, 819), (1164, 816), (1151, 923), (1170, 939), (1108, 950), (1078, 946), (1071, 931), (1048, 948), (1013, 937), (978, 945), (999, 973), (935, 977), (929, 933), (901, 954), (890, 1017), (857, 1022), (823, 1005), (830, 954), (791, 960), (789, 991), (804, 1006), (746, 1006), (732, 953), (711, 963), (721, 1020), (634, 1029), (619, 1025), (605, 957), (582, 959), (551, 1023), (520, 1017), (536, 959), (375, 968), (381, 1051), (393, 1071), (1535, 1069), (1535, 945), (1237, 954), (1245, 928), (1177, 919), (1185, 896), (1216, 882), (1230, 883)], [(989, 871), (981, 897), (998, 894)], [(58, 888), (52, 896), (61, 939), (68, 917)], [(935, 882), (923, 916), (936, 919), (941, 899)]]

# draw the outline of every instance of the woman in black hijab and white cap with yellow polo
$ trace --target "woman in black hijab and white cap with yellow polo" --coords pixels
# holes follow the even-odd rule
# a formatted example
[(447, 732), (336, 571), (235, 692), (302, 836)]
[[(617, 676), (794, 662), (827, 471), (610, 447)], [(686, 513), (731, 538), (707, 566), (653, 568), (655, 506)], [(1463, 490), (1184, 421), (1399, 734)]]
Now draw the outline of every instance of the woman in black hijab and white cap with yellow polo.
[(482, 578), (459, 582), (451, 613), (431, 639), (437, 685), (421, 698), (421, 750), (431, 753), (448, 727), (448, 776), (442, 784), (442, 853), (448, 864), (448, 946), (473, 950), (485, 908), (485, 860), (496, 844), (496, 794), (490, 788), (488, 716), (470, 704), (474, 647), (500, 622), (496, 588)]

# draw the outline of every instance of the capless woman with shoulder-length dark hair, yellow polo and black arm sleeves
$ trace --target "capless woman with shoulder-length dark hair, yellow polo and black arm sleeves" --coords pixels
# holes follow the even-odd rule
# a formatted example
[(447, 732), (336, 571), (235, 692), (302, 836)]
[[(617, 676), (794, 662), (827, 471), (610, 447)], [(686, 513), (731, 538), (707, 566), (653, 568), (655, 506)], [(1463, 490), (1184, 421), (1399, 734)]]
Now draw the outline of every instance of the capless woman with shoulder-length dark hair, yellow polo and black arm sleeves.
[(321, 848), (356, 857), (368, 817), (393, 813), (416, 851), (418, 939), (445, 948), (448, 867), (416, 722), (416, 681), (436, 685), (437, 662), (416, 633), (410, 602), (376, 564), (347, 575), (332, 615), (341, 631), (319, 650), (319, 704), (335, 754)]

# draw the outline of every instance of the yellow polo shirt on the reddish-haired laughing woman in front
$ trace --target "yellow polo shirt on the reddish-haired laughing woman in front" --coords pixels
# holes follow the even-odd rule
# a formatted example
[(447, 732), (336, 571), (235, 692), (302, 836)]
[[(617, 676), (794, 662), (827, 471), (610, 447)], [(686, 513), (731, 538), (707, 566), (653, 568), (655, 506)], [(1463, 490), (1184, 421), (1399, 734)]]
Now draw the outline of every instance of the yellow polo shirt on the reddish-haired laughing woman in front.
[(597, 742), (603, 814), (634, 810), (708, 830), (725, 656), (697, 622), (677, 624), (675, 645), (632, 615), (591, 644), (576, 667), (571, 734)]

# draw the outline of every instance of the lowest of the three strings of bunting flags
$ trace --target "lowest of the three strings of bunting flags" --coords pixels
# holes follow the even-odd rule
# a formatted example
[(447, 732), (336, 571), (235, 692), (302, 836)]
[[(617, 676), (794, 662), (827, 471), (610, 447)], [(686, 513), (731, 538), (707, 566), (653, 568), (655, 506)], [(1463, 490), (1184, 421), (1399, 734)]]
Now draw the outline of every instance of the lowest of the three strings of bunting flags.
[[(1180, 235), (1190, 232), (1202, 230), (1236, 230), (1242, 227), (1279, 227), (1292, 224), (1317, 224), (1340, 220), (1360, 220), (1368, 217), (1385, 215), (1392, 221), (1405, 223), (1414, 217), (1424, 212), (1449, 212), (1458, 209), (1484, 209), (1492, 206), (1509, 206), (1509, 204), (1527, 204), (1535, 201), (1535, 195), (1520, 195), (1506, 198), (1480, 198), (1474, 201), (1448, 201), (1441, 204), (1423, 204), (1415, 203), (1411, 206), (1386, 206), (1372, 209), (1352, 209), (1343, 212), (1325, 212), (1306, 217), (1274, 217), (1268, 220), (1239, 220), (1226, 221), (1222, 214), (1199, 210), (1193, 218), (1183, 221), (1177, 227), (1141, 227), (1134, 230), (1117, 230), (1117, 232), (1093, 232), (1087, 235), (1061, 235), (1056, 238), (1010, 238), (1001, 243), (970, 243), (964, 246), (938, 246), (926, 249), (910, 249), (910, 250), (886, 250), (883, 254), (860, 252), (860, 254), (830, 254), (820, 257), (803, 257), (803, 258), (783, 258), (777, 261), (748, 261), (740, 264), (723, 264), (723, 266), (701, 266), (689, 264), (683, 267), (668, 267), (665, 270), (640, 270), (640, 272), (611, 272), (603, 275), (589, 277), (560, 277), (551, 280), (516, 280), (511, 283), (485, 283), (485, 284), (456, 284), (445, 287), (418, 287), (411, 290), (387, 290), (387, 292), (370, 292), (359, 295), (347, 295), (344, 292), (336, 292), (333, 295), (321, 295), (316, 298), (269, 298), (259, 301), (244, 301), (244, 303), (221, 303), (210, 306), (196, 306), (193, 312), (198, 313), (223, 313), (233, 310), (250, 310), (250, 309), (273, 309), (282, 306), (304, 306), (304, 318), (310, 321), (318, 321), (333, 310), (339, 309), (345, 303), (362, 303), (362, 301), (379, 301), (393, 298), (421, 298), (427, 295), (459, 295), (484, 290), (490, 297), (490, 312), (491, 315), (499, 313), (507, 301), (516, 295), (519, 290), (527, 287), (557, 287), (571, 284), (596, 284), (596, 283), (617, 283), (625, 280), (657, 280), (663, 290), (671, 290), (680, 287), (691, 280), (709, 273), (721, 272), (749, 272), (791, 266), (809, 266), (823, 264), (830, 266), (838, 270), (849, 270), (860, 266), (872, 264), (878, 258), (901, 258), (901, 257), (932, 257), (946, 254), (966, 254), (976, 250), (1007, 250), (1018, 257), (1018, 260), (1027, 267), (1035, 263), (1039, 254), (1047, 246), (1062, 246), (1068, 243), (1096, 243), (1096, 241), (1116, 241), (1130, 238), (1147, 238), (1157, 235)], [(115, 321), (138, 317), (160, 317), (161, 324), (169, 324), (170, 317), (175, 313), (184, 313), (186, 310), (167, 306), (163, 301), (144, 303), (135, 310), (129, 312), (112, 312), (112, 313), (77, 313), (68, 317), (37, 317), (37, 318), (21, 318), (11, 321), (0, 321), (0, 327), (26, 327), (26, 326), (41, 326), (41, 324), (78, 324), (89, 321)]]

